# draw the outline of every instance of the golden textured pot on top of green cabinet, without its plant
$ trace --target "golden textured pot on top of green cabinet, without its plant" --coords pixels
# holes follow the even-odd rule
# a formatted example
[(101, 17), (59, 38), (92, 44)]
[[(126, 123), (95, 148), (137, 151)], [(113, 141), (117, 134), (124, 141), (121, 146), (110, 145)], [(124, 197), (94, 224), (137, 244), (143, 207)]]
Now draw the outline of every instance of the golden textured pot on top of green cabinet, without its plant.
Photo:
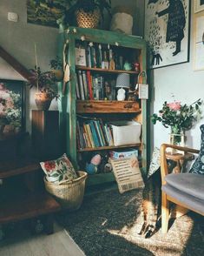
[(100, 21), (100, 10), (95, 9), (93, 12), (85, 12), (83, 10), (76, 10), (76, 22), (81, 28), (97, 28)]

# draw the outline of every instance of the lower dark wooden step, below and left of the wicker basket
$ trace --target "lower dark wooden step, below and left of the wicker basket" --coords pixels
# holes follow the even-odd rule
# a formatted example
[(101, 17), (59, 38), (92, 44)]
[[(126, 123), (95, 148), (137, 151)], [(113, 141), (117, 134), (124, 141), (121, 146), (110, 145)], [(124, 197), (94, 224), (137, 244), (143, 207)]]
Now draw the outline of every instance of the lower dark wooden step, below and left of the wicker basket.
[(61, 206), (47, 193), (23, 195), (1, 203), (0, 224), (60, 210)]

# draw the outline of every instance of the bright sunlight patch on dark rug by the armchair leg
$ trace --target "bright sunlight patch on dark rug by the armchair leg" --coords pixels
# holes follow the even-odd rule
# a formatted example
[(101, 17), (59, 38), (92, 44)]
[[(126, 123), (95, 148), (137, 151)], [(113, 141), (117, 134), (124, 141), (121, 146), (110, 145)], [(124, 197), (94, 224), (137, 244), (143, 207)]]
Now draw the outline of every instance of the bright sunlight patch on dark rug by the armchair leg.
[[(121, 230), (108, 229), (111, 235), (119, 236), (128, 242), (148, 249), (156, 255), (181, 255), (184, 252), (188, 239), (194, 227), (194, 222), (189, 216), (183, 216), (182, 219), (176, 219), (173, 226), (167, 234), (162, 234), (161, 230), (156, 232), (150, 239), (145, 239), (138, 234), (141, 228), (140, 218), (133, 226), (123, 226)], [(161, 254), (160, 254), (161, 253)]]

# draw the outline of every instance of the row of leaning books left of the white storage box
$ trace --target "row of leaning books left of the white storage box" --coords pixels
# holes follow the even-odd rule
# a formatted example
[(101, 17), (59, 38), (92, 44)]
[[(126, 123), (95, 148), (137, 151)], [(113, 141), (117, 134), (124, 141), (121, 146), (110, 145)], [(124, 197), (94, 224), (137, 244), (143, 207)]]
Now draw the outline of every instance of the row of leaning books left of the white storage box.
[(114, 145), (111, 125), (102, 120), (76, 121), (76, 140), (78, 149)]

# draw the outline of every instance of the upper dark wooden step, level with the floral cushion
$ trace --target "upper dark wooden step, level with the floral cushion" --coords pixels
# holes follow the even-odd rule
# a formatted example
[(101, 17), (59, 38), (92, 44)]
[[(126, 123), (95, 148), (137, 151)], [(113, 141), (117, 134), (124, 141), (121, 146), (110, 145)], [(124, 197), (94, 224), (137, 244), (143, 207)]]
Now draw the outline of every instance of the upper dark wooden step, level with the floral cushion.
[(5, 179), (14, 175), (33, 172), (40, 169), (40, 164), (33, 159), (15, 159), (12, 161), (0, 162), (0, 179)]

